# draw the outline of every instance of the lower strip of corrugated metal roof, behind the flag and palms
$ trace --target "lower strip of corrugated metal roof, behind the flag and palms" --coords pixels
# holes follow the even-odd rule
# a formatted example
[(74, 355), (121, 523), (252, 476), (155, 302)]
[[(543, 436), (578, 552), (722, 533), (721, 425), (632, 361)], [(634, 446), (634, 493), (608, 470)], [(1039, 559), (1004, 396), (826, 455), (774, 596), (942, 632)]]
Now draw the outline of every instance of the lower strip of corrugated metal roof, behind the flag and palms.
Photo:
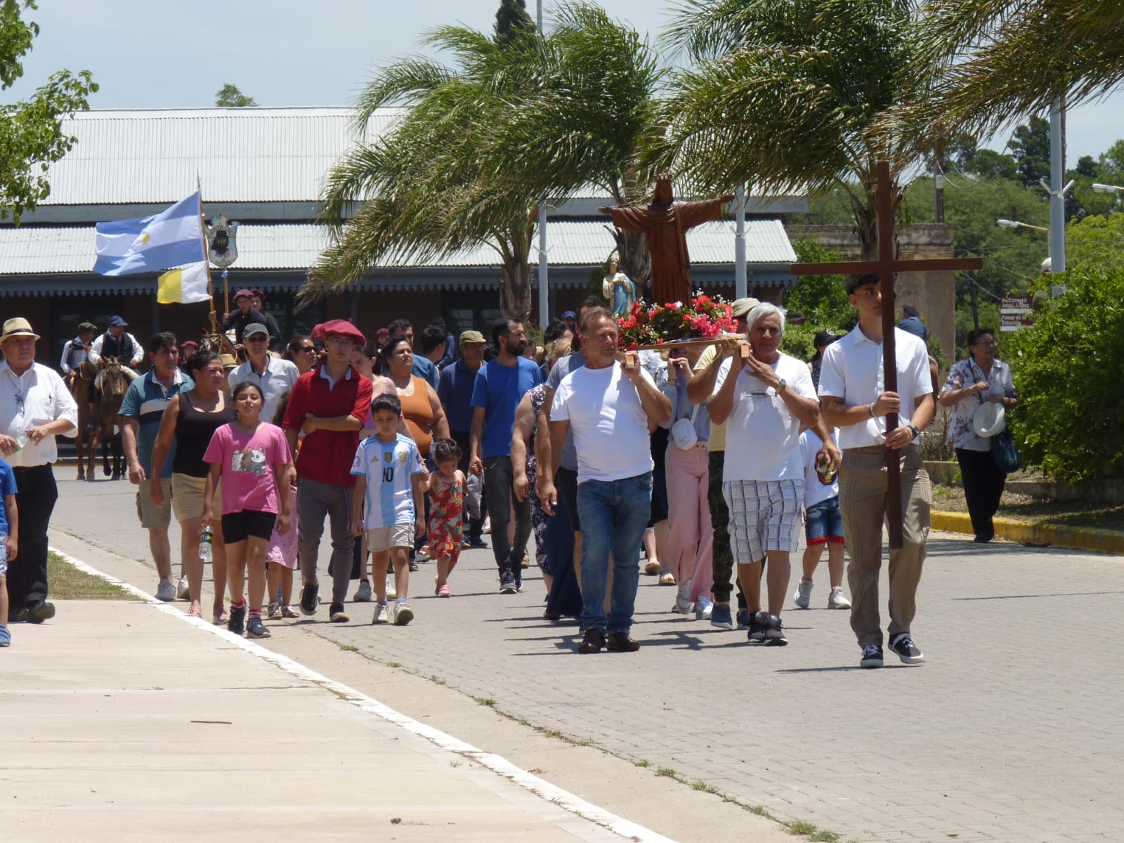
[[(551, 223), (546, 229), (547, 255), (554, 265), (595, 266), (615, 246), (602, 223)], [(94, 261), (93, 227), (0, 228), (0, 274), (87, 272)], [(532, 263), (538, 262), (537, 238)], [(327, 245), (327, 229), (318, 225), (243, 225), (238, 227), (238, 269), (281, 270), (311, 266)], [(745, 224), (746, 263), (788, 264), (796, 254), (779, 220)], [(729, 223), (706, 223), (687, 233), (687, 247), (695, 263), (733, 263), (734, 233)], [(488, 246), (465, 250), (427, 264), (401, 266), (496, 266), (498, 256)]]

